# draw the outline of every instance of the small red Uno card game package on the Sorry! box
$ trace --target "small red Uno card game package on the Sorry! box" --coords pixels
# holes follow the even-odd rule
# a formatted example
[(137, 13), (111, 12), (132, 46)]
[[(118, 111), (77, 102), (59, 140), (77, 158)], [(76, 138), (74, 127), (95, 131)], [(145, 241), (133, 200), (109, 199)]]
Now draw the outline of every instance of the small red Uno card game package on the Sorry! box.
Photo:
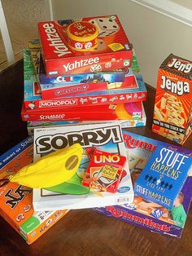
[(89, 166), (82, 185), (98, 191), (116, 193), (127, 158), (111, 152), (90, 150)]

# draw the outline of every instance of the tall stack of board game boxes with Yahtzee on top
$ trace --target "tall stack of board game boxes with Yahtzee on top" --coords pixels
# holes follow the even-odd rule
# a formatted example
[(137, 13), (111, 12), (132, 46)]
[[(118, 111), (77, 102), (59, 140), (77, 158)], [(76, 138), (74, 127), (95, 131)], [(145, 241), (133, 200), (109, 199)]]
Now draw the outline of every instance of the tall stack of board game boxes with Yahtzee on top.
[(146, 86), (118, 17), (78, 21), (81, 31), (74, 32), (78, 35), (86, 33), (81, 22), (94, 24), (98, 30), (98, 45), (91, 51), (72, 48), (68, 28), (73, 22), (39, 23), (41, 46), (34, 40), (24, 50), (21, 116), (28, 121), (29, 133), (37, 126), (87, 122), (122, 121), (124, 127), (145, 126), (142, 101), (146, 100)]

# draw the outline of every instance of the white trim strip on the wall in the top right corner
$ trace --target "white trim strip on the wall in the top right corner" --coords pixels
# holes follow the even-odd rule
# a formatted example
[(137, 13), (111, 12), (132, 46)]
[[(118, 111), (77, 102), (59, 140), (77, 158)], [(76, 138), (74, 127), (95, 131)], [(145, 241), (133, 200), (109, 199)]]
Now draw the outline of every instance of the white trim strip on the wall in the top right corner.
[(131, 0), (192, 27), (192, 10), (169, 0)]

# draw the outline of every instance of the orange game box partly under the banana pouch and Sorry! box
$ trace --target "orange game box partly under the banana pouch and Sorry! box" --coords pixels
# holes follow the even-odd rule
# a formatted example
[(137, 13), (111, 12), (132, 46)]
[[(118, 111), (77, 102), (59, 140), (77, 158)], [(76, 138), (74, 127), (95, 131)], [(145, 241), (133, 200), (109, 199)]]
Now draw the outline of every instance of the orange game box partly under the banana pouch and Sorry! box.
[(0, 215), (31, 244), (68, 210), (34, 212), (33, 190), (17, 183), (3, 183), (10, 174), (33, 161), (33, 137), (24, 139), (0, 157)]

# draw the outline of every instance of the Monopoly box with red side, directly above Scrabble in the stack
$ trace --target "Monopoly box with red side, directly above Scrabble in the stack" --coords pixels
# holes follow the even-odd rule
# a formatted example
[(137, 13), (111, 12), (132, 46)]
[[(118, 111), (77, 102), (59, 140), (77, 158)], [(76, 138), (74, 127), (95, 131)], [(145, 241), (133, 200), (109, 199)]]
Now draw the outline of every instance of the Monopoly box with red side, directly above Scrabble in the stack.
[[(133, 60), (137, 59), (134, 56)], [(134, 64), (137, 60), (134, 61)], [(134, 69), (133, 69), (134, 71)], [(41, 97), (41, 87), (34, 73), (30, 51), (24, 50), (24, 106), (26, 109), (34, 108), (61, 108), (61, 107), (79, 107), (101, 104), (118, 104), (126, 102), (146, 100), (146, 86), (142, 79), (141, 73), (134, 73), (137, 79), (137, 88), (118, 89), (116, 95), (113, 90), (103, 90), (100, 92), (85, 93), (81, 95), (72, 95), (62, 99), (46, 99)]]

